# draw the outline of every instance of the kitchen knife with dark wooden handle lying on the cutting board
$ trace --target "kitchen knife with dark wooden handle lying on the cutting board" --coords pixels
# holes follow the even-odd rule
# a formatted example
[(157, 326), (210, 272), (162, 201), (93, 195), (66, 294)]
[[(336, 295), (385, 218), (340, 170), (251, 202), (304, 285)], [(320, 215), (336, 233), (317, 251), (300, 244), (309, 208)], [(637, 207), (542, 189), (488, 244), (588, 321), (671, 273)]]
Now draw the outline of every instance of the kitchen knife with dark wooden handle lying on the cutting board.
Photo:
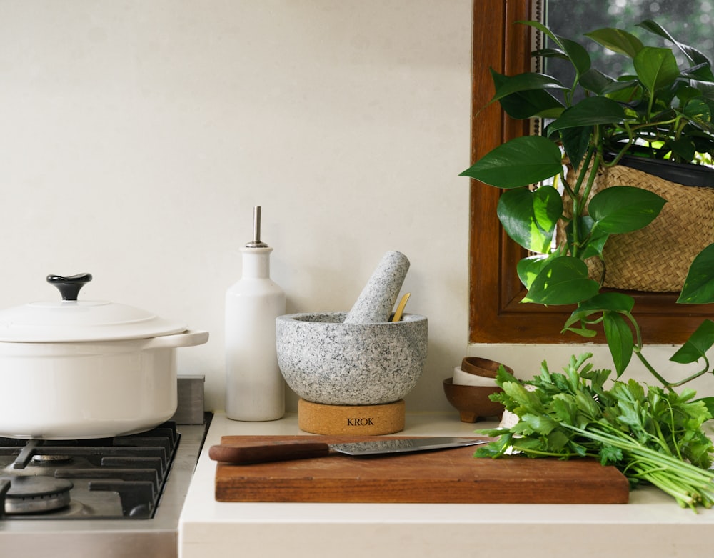
[(214, 461), (234, 465), (246, 465), (291, 459), (324, 457), (338, 452), (352, 457), (374, 457), (412, 452), (430, 452), (452, 447), (475, 446), (491, 442), (489, 439), (428, 437), (428, 438), (383, 438), (370, 442), (326, 444), (325, 442), (273, 442), (251, 446), (218, 445), (208, 449), (208, 457)]

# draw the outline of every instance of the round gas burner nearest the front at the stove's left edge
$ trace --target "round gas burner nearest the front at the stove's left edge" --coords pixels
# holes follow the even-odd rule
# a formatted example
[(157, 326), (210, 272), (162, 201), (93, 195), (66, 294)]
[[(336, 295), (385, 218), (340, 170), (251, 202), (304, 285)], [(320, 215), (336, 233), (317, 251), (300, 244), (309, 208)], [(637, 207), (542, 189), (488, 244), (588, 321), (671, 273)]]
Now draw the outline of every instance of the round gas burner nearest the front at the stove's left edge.
[(5, 494), (6, 514), (53, 512), (69, 506), (74, 484), (54, 477), (3, 477), (10, 482)]

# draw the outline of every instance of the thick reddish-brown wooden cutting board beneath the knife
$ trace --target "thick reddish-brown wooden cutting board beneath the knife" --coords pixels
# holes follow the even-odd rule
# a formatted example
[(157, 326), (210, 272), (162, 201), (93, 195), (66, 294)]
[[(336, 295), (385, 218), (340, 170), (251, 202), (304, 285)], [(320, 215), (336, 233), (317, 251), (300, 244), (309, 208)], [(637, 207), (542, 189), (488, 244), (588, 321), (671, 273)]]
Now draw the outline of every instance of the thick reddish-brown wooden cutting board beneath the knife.
[[(404, 438), (404, 437), (392, 437)], [(328, 444), (374, 437), (224, 436), (222, 444), (306, 439)], [(384, 437), (380, 437), (384, 439)], [(359, 458), (343, 454), (251, 465), (216, 465), (218, 502), (626, 504), (628, 480), (585, 459), (473, 457), (474, 447)]]

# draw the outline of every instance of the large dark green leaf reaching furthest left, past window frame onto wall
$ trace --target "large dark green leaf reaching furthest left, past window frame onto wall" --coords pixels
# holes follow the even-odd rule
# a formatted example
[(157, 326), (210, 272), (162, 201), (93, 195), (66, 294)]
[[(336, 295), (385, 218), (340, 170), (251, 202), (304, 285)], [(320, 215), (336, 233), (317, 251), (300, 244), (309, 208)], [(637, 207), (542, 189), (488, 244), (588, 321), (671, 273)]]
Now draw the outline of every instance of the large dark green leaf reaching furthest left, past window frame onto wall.
[(498, 188), (519, 188), (560, 174), (560, 159), (560, 149), (553, 141), (523, 136), (492, 149), (460, 176)]

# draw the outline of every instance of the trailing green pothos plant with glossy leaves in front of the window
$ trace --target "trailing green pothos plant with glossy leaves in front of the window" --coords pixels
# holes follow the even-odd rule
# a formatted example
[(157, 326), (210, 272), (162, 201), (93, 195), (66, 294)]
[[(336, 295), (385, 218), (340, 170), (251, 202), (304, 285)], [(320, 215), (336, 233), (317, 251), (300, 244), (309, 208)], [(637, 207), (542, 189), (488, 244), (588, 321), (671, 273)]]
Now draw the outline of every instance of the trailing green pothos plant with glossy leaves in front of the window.
[[(585, 46), (538, 22), (521, 24), (548, 36), (552, 46), (534, 55), (564, 60), (572, 66), (573, 81), (566, 84), (539, 73), (504, 76), (492, 70), (496, 86), (492, 103), (498, 101), (513, 118), (549, 123), (542, 135), (508, 141), (462, 175), (504, 189), (498, 219), (513, 240), (535, 253), (518, 264), (518, 276), (528, 289), (523, 302), (575, 304), (563, 332), (594, 337), (595, 327), (601, 324), (618, 378), (633, 354), (670, 390), (710, 372), (706, 352), (714, 345), (714, 322), (705, 320), (671, 357), (681, 364), (701, 360), (703, 367), (686, 379), (670, 382), (643, 355), (633, 297), (603, 292), (602, 281), (590, 278), (584, 261), (603, 260), (611, 235), (647, 226), (665, 204), (660, 196), (630, 186), (612, 186), (588, 201), (598, 169), (618, 164), (635, 151), (652, 158), (710, 161), (714, 153), (710, 61), (654, 21), (644, 21), (640, 29), (667, 39), (673, 48), (645, 46), (622, 29), (598, 29), (585, 35), (631, 61), (634, 73), (607, 76), (593, 68)], [(608, 153), (613, 155), (607, 157)], [(565, 181), (566, 162), (575, 169), (571, 184)], [(559, 185), (562, 196), (570, 199), (572, 216), (563, 214)], [(554, 245), (561, 220), (567, 222), (566, 234)], [(714, 245), (693, 261), (678, 302), (714, 302)], [(712, 402), (714, 398), (708, 400), (710, 409)]]

